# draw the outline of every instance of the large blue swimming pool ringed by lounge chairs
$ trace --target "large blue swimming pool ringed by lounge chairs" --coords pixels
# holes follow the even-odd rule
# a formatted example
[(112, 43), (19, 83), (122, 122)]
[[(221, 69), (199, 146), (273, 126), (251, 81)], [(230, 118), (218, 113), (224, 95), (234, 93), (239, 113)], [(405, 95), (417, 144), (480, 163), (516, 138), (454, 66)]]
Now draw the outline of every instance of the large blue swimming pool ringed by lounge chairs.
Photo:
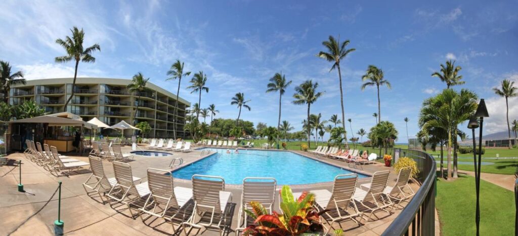
[[(221, 176), (228, 184), (242, 184), (245, 177), (273, 177), (278, 185), (312, 184), (334, 181), (335, 176), (351, 174), (349, 170), (328, 165), (288, 151), (202, 148), (215, 154), (172, 171), (175, 178), (191, 180), (194, 174)], [(358, 178), (367, 176), (358, 174)]]

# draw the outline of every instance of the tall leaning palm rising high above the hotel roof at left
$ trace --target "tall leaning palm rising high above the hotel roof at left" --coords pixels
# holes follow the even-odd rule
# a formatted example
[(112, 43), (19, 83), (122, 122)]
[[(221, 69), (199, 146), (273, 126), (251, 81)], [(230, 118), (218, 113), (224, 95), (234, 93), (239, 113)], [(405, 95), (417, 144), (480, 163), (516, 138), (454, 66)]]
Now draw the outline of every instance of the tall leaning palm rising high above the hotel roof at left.
[(99, 44), (94, 44), (89, 46), (88, 48), (83, 48), (83, 40), (84, 40), (84, 32), (83, 29), (79, 30), (76, 26), (70, 29), (72, 32), (72, 38), (66, 36), (65, 39), (56, 39), (56, 43), (60, 44), (66, 51), (65, 56), (56, 57), (54, 60), (56, 63), (65, 63), (71, 60), (76, 61), (76, 69), (74, 72), (74, 81), (72, 82), (72, 92), (70, 93), (70, 97), (65, 102), (65, 112), (66, 107), (70, 100), (74, 97), (74, 90), (76, 88), (76, 78), (77, 78), (77, 67), (79, 66), (79, 61), (82, 62), (95, 62), (95, 57), (91, 54), (95, 51), (100, 51)]

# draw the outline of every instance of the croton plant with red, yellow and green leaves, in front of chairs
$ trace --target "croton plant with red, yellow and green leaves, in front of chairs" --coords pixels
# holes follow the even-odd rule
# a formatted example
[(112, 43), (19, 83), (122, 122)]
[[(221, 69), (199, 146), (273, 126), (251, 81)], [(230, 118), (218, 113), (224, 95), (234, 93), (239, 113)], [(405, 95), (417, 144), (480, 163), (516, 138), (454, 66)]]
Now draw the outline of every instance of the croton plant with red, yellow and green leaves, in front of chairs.
[(252, 225), (243, 230), (243, 235), (301, 235), (309, 231), (322, 230), (319, 212), (313, 207), (314, 195), (303, 192), (295, 199), (289, 186), (282, 186), (282, 214), (275, 211), (268, 214), (260, 202), (252, 201), (252, 211), (243, 208), (247, 215), (255, 219), (258, 226)]

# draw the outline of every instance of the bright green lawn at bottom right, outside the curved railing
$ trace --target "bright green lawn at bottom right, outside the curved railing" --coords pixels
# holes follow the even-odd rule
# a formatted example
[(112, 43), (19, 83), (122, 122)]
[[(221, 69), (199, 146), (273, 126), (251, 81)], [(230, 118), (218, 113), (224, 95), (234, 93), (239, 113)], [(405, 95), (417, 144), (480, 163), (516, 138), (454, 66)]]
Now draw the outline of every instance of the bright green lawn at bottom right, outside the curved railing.
[[(436, 208), (442, 235), (475, 235), (475, 180), (459, 175), (437, 180)], [(480, 235), (514, 235), (514, 194), (492, 183), (480, 183)]]

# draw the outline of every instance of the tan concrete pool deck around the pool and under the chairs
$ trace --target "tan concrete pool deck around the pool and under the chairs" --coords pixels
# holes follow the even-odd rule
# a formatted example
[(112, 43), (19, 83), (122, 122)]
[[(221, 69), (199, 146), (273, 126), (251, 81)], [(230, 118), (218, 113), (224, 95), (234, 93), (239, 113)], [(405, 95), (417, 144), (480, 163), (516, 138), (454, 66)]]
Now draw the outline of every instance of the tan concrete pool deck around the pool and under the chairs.
[[(123, 147), (123, 152), (130, 152), (130, 147)], [(260, 149), (259, 149), (260, 150)], [(313, 158), (321, 162), (336, 165), (348, 169), (347, 163), (317, 158), (313, 154), (301, 151), (294, 151), (308, 158)], [(210, 155), (210, 154), (209, 154)], [(200, 151), (190, 153), (174, 153), (175, 158), (181, 157), (184, 160), (183, 165), (189, 165), (208, 155), (200, 156)], [(73, 156), (81, 161), (88, 162), (87, 156)], [(25, 193), (18, 192), (17, 185), (19, 183), (18, 164), (11, 161), (8, 166), (0, 167), (0, 232), (7, 234), (15, 229), (25, 219), (36, 213), (52, 193), (56, 190), (57, 182), (62, 181), (62, 206), (61, 219), (64, 221), (64, 231), (68, 235), (163, 235), (172, 234), (170, 224), (164, 224), (162, 219), (148, 219), (146, 224), (142, 223), (140, 218), (129, 217), (129, 211), (121, 204), (110, 203), (102, 204), (98, 197), (89, 197), (84, 191), (82, 183), (90, 176), (89, 169), (81, 169), (72, 172), (68, 177), (55, 177), (49, 171), (25, 159), (22, 153), (12, 153), (7, 156), (11, 160), (18, 162), (22, 160), (22, 183)], [(171, 161), (170, 156), (136, 156), (134, 161), (128, 162), (132, 166), (133, 175), (142, 178), (142, 182), (147, 181), (146, 170), (149, 167), (168, 169), (167, 166)], [(108, 178), (113, 177), (113, 168), (111, 162), (103, 161), (105, 173)], [(88, 168), (88, 166), (87, 166)], [(362, 174), (371, 175), (378, 170), (391, 170), (389, 183), (392, 185), (396, 175), (391, 167), (385, 167), (380, 163), (365, 165)], [(353, 170), (358, 172), (357, 170)], [(308, 175), (308, 178), (310, 175)], [(364, 183), (370, 181), (370, 178), (363, 178), (358, 182)], [(332, 182), (309, 184), (309, 185), (293, 185), (294, 192), (327, 189), (331, 190)], [(175, 179), (176, 186), (191, 187), (191, 181)], [(279, 186), (280, 187), (280, 186)], [(416, 184), (412, 184), (414, 191), (418, 188)], [(231, 216), (231, 229), (237, 228), (238, 211), (240, 207), (241, 186), (227, 185), (226, 191), (232, 192), (232, 203), (227, 205), (234, 214)], [(406, 203), (403, 203), (405, 205)], [(278, 208), (278, 199), (276, 199), (276, 210)], [(233, 210), (233, 211), (232, 211)], [(353, 222), (342, 223), (341, 228), (346, 230), (346, 234), (354, 235), (380, 235), (386, 227), (388, 227), (393, 219), (401, 212), (395, 210), (393, 214), (378, 212), (376, 215), (380, 217), (377, 221), (370, 221), (361, 227), (357, 227)], [(12, 235), (52, 235), (53, 222), (57, 219), (57, 195), (41, 212), (37, 213), (33, 218), (27, 221)], [(335, 227), (337, 227), (336, 225)], [(192, 232), (193, 235), (195, 232)], [(198, 234), (217, 235), (217, 231), (203, 231)], [(235, 235), (233, 231), (226, 231), (228, 235)], [(181, 233), (183, 235), (183, 233)]]

